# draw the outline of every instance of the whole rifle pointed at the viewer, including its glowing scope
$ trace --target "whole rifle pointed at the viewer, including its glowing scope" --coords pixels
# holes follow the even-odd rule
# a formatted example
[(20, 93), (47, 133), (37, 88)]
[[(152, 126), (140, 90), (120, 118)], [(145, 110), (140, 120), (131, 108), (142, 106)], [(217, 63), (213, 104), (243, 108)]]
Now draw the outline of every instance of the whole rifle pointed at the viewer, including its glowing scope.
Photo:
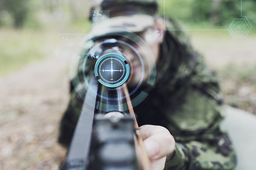
[[(149, 157), (125, 83), (127, 74), (129, 76), (129, 64), (116, 45), (107, 46), (103, 51), (95, 64), (95, 77), (90, 79), (62, 169), (149, 170)], [(104, 69), (107, 61), (111, 69)], [(113, 64), (117, 66), (122, 62), (125, 74), (122, 74), (122, 79), (113, 77)], [(110, 77), (112, 81), (106, 81), (105, 77)], [(114, 79), (119, 81), (112, 83)]]

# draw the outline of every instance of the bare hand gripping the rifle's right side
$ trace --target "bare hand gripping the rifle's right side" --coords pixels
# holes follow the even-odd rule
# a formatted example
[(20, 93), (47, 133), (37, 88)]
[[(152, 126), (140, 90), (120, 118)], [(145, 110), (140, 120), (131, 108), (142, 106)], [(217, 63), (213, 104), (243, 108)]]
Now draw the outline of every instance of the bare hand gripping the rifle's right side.
[(169, 130), (156, 125), (143, 125), (140, 127), (140, 132), (149, 154), (152, 170), (163, 170), (166, 156), (174, 152), (174, 137)]

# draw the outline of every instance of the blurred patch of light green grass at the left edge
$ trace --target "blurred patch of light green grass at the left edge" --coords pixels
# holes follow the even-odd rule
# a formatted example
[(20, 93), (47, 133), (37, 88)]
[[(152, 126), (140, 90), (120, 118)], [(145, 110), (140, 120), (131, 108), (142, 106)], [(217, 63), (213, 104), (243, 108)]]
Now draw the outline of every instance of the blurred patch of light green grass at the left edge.
[(1, 29), (0, 37), (4, 42), (0, 43), (0, 77), (47, 56), (48, 34), (35, 30)]

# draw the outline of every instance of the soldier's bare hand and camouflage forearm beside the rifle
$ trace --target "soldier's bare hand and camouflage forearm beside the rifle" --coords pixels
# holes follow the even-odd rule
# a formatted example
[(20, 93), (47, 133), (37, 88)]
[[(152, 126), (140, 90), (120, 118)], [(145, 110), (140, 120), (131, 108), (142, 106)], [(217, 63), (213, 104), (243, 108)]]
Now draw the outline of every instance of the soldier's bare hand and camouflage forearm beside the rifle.
[(161, 126), (143, 125), (141, 132), (153, 170), (235, 168), (233, 146), (228, 135), (220, 130), (189, 142), (175, 142)]

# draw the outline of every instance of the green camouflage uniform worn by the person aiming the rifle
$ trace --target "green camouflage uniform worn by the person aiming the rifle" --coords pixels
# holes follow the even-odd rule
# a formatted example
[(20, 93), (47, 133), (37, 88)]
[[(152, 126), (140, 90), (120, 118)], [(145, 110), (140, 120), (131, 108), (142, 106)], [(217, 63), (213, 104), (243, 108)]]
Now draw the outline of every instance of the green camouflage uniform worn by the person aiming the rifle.
[[(166, 28), (180, 26), (170, 19)], [(219, 128), (223, 99), (218, 80), (185, 33), (166, 31), (156, 69), (154, 89), (134, 111), (140, 125), (161, 125), (174, 136), (176, 149), (165, 169), (234, 169), (233, 145)], [(69, 145), (82, 107), (73, 86), (70, 95), (60, 125), (59, 141), (64, 145)]]

